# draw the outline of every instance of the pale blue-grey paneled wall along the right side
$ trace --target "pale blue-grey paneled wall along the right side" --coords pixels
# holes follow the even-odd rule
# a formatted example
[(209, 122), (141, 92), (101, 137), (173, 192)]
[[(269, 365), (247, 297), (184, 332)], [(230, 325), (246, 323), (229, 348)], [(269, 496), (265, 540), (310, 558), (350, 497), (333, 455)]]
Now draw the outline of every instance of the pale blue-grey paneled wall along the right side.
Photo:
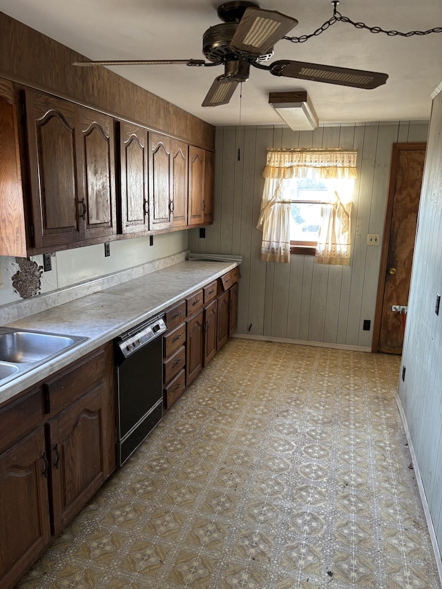
[(423, 173), (399, 398), (442, 550), (442, 93), (434, 99)]

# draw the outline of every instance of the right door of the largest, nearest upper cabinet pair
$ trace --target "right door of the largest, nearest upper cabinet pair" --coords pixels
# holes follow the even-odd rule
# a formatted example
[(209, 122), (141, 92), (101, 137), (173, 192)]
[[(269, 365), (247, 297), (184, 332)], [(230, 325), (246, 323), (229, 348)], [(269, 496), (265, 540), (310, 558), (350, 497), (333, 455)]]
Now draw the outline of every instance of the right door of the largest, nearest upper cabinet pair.
[(79, 117), (85, 175), (85, 202), (80, 211), (84, 237), (107, 238), (117, 234), (113, 118), (88, 108), (79, 108)]

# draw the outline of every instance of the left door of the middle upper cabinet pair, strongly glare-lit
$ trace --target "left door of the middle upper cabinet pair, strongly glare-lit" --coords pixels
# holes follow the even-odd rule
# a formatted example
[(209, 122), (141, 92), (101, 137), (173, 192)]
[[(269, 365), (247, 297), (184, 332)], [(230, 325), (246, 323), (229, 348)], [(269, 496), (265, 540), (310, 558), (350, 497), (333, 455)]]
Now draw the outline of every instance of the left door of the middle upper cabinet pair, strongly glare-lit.
[(149, 229), (172, 225), (171, 139), (149, 133)]

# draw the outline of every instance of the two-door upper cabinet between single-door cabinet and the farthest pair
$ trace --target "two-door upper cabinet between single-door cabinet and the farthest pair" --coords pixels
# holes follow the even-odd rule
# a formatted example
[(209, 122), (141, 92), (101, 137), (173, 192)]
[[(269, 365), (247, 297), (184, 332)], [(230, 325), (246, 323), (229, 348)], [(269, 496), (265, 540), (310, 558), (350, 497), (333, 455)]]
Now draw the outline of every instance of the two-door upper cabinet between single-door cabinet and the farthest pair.
[(187, 224), (187, 144), (149, 133), (149, 229)]

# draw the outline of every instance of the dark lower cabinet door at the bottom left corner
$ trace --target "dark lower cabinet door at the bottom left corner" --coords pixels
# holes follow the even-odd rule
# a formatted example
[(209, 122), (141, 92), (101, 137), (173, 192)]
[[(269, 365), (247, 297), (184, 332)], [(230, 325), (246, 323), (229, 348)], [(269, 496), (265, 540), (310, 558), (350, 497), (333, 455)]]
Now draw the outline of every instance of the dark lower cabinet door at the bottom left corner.
[(10, 588), (50, 540), (44, 428), (0, 454), (0, 579)]

